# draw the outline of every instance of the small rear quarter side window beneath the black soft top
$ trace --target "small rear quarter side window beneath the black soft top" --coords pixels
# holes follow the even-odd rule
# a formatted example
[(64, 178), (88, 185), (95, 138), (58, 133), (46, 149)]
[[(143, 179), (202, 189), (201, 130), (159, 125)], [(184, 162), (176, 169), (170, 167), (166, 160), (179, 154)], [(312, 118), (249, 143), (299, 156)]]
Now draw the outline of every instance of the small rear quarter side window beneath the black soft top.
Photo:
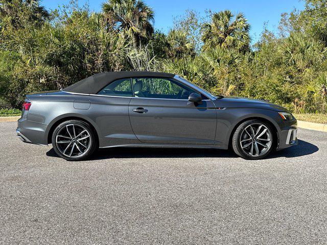
[(126, 96), (133, 97), (133, 90), (129, 78), (123, 78), (105, 86), (98, 94), (111, 95), (111, 96)]

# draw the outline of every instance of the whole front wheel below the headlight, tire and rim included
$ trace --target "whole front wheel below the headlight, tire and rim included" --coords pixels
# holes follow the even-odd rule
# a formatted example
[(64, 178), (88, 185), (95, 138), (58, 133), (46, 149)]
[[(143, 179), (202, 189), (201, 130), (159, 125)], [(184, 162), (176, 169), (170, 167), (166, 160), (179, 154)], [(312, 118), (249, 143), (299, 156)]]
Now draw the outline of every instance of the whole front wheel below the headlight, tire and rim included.
[(244, 159), (262, 159), (273, 149), (274, 140), (273, 131), (266, 122), (247, 120), (233, 134), (232, 148)]

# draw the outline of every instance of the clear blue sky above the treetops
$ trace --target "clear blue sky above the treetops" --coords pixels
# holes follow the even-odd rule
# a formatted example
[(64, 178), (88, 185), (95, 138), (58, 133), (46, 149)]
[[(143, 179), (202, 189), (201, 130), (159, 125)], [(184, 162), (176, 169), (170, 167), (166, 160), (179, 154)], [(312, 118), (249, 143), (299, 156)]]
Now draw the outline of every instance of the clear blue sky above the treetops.
[[(69, 0), (43, 0), (42, 5), (48, 9), (54, 9)], [(100, 11), (101, 4), (105, 0), (79, 0), (79, 5), (88, 3), (92, 11)], [(304, 3), (300, 0), (144, 0), (155, 12), (154, 27), (167, 33), (173, 27), (174, 17), (185, 13), (187, 9), (197, 11), (205, 17), (205, 11), (211, 9), (214, 12), (229, 9), (233, 13), (242, 12), (248, 19), (251, 30), (252, 42), (258, 40), (266, 23), (268, 30), (277, 32), (281, 14), (291, 12), (294, 8), (304, 9)]]

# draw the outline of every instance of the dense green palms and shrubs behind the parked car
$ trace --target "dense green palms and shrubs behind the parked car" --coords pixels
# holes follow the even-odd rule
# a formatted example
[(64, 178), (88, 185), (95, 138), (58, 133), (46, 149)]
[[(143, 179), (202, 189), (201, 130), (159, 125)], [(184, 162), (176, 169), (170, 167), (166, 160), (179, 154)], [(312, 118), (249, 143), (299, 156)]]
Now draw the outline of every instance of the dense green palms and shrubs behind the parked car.
[(189, 10), (165, 34), (153, 29), (154, 12), (141, 0), (109, 0), (99, 13), (76, 3), (49, 12), (37, 0), (0, 0), (0, 107), (19, 108), (26, 93), (98, 72), (157, 70), (217, 94), (327, 112), (324, 0), (282, 14), (279, 33), (264, 30), (252, 46), (242, 13), (200, 18)]

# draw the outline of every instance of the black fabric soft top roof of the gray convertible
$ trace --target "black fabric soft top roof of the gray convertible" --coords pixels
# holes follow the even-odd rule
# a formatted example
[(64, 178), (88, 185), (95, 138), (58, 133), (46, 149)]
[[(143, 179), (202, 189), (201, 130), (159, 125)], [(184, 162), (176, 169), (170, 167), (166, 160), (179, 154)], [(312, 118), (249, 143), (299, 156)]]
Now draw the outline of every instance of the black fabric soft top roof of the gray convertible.
[(68, 86), (63, 91), (73, 93), (87, 93), (96, 94), (110, 82), (121, 78), (131, 77), (161, 77), (173, 78), (175, 75), (164, 72), (151, 72), (151, 71), (113, 71), (99, 73), (88, 78), (85, 78), (71, 86)]

